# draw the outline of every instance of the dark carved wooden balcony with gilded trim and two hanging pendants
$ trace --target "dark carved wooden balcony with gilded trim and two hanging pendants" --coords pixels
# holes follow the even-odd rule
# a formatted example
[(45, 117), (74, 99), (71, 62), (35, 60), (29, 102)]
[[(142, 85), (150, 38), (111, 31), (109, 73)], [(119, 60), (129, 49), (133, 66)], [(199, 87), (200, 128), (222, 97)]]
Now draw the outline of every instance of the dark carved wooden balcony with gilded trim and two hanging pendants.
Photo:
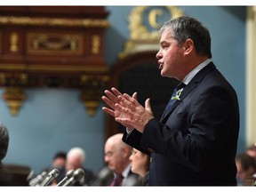
[(108, 84), (103, 6), (0, 6), (0, 86), (12, 115), (26, 88), (81, 90), (93, 116)]

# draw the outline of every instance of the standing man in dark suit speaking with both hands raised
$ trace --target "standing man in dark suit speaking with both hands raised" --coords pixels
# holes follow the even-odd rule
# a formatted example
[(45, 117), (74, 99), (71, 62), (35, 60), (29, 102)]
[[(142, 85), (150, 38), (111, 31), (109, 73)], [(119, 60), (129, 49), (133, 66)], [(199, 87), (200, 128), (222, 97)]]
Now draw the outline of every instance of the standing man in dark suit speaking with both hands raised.
[(211, 58), (211, 36), (188, 16), (164, 23), (156, 54), (161, 76), (180, 86), (161, 120), (132, 96), (112, 88), (103, 111), (126, 126), (124, 142), (151, 154), (149, 185), (235, 186), (239, 108), (236, 92)]

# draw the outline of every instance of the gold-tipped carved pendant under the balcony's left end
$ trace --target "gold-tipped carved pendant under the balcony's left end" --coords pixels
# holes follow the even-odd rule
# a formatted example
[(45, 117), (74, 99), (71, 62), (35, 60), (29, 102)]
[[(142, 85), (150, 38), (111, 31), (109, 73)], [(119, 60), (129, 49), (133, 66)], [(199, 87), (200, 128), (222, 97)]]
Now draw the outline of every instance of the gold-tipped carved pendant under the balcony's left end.
[(3, 99), (6, 100), (12, 116), (18, 115), (22, 102), (26, 100), (26, 94), (18, 86), (8, 86), (5, 88)]

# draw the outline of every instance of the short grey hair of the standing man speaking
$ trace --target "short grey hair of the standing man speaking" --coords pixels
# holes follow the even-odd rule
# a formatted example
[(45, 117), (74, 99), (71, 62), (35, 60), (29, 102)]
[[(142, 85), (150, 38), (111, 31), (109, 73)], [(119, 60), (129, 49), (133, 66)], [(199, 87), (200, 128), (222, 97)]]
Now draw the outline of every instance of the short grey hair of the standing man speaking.
[(210, 32), (199, 20), (188, 16), (180, 16), (164, 22), (163, 27), (159, 29), (160, 36), (165, 29), (171, 33), (179, 44), (184, 43), (188, 38), (192, 39), (197, 54), (212, 58)]

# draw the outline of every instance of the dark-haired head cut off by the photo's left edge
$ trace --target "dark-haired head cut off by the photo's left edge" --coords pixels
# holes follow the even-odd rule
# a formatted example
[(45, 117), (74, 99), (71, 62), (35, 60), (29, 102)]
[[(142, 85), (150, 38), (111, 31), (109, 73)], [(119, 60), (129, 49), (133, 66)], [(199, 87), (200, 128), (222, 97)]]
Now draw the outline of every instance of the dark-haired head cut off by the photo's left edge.
[(6, 156), (9, 146), (9, 132), (4, 124), (0, 123), (0, 162)]

